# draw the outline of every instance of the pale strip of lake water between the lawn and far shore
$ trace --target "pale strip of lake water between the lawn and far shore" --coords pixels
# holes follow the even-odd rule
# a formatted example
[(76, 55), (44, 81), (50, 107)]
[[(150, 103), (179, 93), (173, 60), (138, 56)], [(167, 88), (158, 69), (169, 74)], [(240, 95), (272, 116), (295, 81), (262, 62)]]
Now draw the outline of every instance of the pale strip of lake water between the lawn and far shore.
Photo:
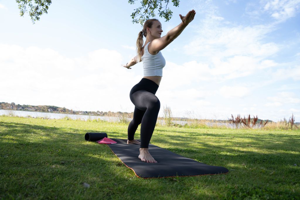
[[(52, 112), (34, 112), (34, 111), (21, 111), (21, 110), (1, 110), (0, 109), (0, 116), (1, 115), (14, 115), (14, 116), (19, 116), (19, 117), (38, 117), (38, 118), (49, 118), (49, 119), (62, 119), (65, 117), (77, 120), (103, 120), (103, 121), (109, 121), (109, 122), (118, 122), (120, 121), (119, 117), (107, 117), (107, 116), (92, 116), (92, 115), (73, 115), (73, 114), (63, 114), (63, 113), (52, 113)], [(131, 121), (132, 118), (126, 118), (128, 121)], [(165, 125), (164, 120), (157, 120), (159, 124)], [(180, 124), (184, 126), (185, 124), (188, 124), (187, 121), (176, 121), (172, 120), (173, 123), (175, 124)], [(228, 128), (233, 128), (232, 124), (228, 123), (221, 123), (221, 122), (206, 122), (205, 123), (207, 126), (226, 126)]]

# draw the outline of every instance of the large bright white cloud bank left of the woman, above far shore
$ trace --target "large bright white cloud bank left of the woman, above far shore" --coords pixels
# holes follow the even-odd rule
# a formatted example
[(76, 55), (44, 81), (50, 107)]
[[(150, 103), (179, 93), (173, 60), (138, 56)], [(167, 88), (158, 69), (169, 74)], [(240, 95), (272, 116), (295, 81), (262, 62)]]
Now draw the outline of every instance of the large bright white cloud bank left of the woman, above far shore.
[(139, 79), (109, 49), (68, 58), (52, 49), (0, 45), (0, 55), (0, 96), (16, 103), (119, 111), (132, 104), (129, 91)]

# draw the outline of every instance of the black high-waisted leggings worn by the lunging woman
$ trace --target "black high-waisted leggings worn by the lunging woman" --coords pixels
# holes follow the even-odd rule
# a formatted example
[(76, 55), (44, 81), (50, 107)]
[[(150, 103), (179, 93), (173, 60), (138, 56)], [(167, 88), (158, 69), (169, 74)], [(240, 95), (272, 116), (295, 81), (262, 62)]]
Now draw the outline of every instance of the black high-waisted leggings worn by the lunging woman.
[(140, 148), (148, 148), (154, 131), (161, 103), (155, 96), (158, 85), (150, 80), (142, 80), (131, 89), (129, 97), (134, 104), (133, 120), (128, 126), (128, 140), (134, 139), (137, 127), (141, 125)]

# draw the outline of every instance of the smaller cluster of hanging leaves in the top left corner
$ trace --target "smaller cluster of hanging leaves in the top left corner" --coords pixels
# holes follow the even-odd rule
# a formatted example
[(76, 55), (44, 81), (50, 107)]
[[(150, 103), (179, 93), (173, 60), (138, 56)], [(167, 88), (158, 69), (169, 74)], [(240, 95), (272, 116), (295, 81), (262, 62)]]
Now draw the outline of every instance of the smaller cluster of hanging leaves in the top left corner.
[(21, 16), (24, 16), (24, 13), (27, 12), (27, 7), (30, 8), (29, 16), (32, 23), (35, 23), (36, 20), (40, 20), (40, 16), (43, 13), (48, 13), (47, 10), (52, 3), (51, 0), (16, 0), (16, 2), (18, 3)]

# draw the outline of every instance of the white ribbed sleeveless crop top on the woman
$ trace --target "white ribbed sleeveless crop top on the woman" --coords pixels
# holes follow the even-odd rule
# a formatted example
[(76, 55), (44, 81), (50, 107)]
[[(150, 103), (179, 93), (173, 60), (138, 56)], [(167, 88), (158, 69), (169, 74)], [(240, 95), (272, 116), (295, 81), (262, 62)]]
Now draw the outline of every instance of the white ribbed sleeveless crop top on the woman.
[(166, 60), (161, 51), (156, 55), (152, 55), (148, 51), (148, 42), (144, 48), (142, 56), (144, 76), (163, 76), (163, 68), (166, 65)]

